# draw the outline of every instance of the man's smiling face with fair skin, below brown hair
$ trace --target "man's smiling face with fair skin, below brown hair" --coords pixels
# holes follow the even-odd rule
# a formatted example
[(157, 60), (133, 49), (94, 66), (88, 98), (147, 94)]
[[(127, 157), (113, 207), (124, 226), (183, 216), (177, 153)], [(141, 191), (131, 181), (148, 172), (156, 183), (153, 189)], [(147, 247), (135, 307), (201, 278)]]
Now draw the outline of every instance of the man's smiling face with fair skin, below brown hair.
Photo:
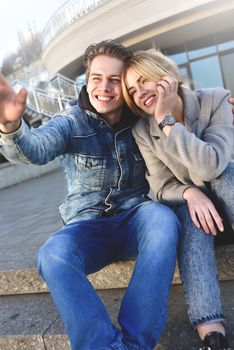
[(123, 107), (121, 73), (124, 63), (114, 57), (100, 55), (93, 59), (87, 92), (96, 111), (108, 120), (118, 120)]

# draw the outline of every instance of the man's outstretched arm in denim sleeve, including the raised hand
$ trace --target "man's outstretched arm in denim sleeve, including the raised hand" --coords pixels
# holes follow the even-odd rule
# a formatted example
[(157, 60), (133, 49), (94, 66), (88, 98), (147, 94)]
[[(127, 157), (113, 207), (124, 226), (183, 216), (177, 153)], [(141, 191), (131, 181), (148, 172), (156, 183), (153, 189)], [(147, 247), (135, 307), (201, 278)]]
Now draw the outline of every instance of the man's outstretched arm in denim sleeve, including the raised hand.
[(16, 93), (0, 75), (0, 152), (13, 163), (46, 164), (66, 152), (72, 118), (61, 112), (46, 125), (30, 129), (22, 118), (26, 98), (26, 89)]

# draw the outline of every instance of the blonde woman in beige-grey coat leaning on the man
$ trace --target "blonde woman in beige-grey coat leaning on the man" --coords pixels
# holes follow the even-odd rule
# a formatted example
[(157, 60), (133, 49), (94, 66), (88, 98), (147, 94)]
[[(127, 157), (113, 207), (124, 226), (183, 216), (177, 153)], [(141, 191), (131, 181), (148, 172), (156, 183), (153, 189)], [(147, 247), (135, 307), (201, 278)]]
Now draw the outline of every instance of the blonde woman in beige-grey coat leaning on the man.
[(221, 212), (234, 224), (232, 108), (227, 90), (194, 92), (183, 83), (176, 64), (157, 50), (135, 52), (123, 74), (124, 97), (143, 116), (133, 135), (150, 187), (182, 223), (178, 260), (190, 320), (201, 349), (224, 350), (213, 243), (224, 231)]

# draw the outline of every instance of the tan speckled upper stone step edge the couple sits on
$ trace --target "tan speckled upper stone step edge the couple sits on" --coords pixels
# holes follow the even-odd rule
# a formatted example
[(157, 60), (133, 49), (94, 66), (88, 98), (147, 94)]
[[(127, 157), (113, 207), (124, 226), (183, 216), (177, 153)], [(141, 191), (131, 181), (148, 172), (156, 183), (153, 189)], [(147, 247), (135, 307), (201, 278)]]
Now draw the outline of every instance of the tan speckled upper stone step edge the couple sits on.
[[(216, 247), (216, 257), (221, 281), (234, 281), (234, 245)], [(89, 276), (95, 289), (126, 288), (134, 261), (111, 264)], [(181, 283), (178, 267), (174, 284)], [(47, 287), (35, 268), (0, 271), (0, 295), (47, 292)]]

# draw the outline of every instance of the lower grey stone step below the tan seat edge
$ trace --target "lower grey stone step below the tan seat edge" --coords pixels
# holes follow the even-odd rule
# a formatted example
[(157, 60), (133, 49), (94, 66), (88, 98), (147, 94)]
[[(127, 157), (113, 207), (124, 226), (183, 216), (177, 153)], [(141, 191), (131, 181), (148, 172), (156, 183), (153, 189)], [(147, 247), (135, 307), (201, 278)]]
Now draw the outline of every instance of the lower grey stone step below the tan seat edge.
[[(222, 282), (227, 334), (234, 344), (234, 281)], [(117, 325), (124, 289), (98, 292)], [(0, 297), (0, 350), (69, 350), (63, 324), (48, 293)], [(180, 285), (173, 285), (169, 317), (157, 350), (198, 350), (200, 341), (186, 314)]]

